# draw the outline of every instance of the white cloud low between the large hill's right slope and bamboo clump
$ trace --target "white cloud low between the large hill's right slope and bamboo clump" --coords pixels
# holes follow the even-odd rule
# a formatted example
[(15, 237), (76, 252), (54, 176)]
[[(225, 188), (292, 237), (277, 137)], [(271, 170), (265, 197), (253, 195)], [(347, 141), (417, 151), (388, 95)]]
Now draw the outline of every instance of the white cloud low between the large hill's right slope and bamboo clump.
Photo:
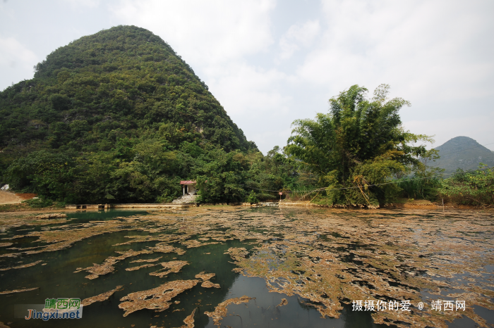
[(266, 153), (275, 144), (286, 144), (291, 122), (286, 118), (293, 99), (284, 91), (284, 73), (245, 63), (215, 68), (215, 75), (208, 73), (215, 76), (209, 84), (212, 94), (261, 151)]

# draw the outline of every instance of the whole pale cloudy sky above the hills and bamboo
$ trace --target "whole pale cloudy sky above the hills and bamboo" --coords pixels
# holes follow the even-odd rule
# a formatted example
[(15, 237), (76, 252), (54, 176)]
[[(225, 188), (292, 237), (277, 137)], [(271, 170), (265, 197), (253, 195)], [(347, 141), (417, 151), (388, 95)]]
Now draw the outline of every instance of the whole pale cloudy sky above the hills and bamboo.
[(74, 39), (137, 25), (191, 65), (263, 153), (332, 96), (381, 83), (411, 101), (411, 132), (494, 149), (493, 13), (492, 0), (0, 0), (0, 89)]

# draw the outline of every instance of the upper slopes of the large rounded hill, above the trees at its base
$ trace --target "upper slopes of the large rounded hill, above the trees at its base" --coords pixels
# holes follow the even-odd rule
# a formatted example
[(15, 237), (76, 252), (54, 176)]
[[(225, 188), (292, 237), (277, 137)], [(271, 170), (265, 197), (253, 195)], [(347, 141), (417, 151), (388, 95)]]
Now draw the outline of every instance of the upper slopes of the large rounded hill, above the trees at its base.
[(174, 127), (227, 150), (253, 147), (191, 67), (142, 28), (82, 37), (35, 70), (1, 93), (1, 147), (108, 150), (123, 136)]

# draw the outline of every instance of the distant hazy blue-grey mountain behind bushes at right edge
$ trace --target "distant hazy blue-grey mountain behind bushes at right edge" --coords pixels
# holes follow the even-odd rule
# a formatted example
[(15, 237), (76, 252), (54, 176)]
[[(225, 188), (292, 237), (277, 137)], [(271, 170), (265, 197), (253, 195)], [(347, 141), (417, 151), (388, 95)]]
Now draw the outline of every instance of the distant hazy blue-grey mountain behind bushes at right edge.
[(479, 163), (494, 166), (494, 152), (469, 137), (454, 137), (435, 149), (441, 158), (433, 165), (445, 169), (445, 173), (458, 168), (475, 170)]

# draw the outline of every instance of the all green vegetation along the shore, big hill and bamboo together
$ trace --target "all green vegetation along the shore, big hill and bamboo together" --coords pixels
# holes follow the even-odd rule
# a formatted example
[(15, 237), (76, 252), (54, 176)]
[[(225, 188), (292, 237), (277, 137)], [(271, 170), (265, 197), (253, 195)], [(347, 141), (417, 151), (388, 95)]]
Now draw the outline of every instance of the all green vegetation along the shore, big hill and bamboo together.
[(430, 165), (438, 151), (423, 144), (430, 137), (402, 127), (409, 102), (388, 99), (386, 84), (367, 93), (341, 92), (329, 113), (296, 120), (287, 145), (264, 156), (166, 42), (112, 27), (56, 49), (32, 80), (0, 92), (0, 184), (60, 203), (166, 203), (184, 179), (197, 180), (201, 203), (283, 191), (375, 207), (400, 197), (459, 202), (467, 189), (476, 191), (461, 201), (494, 203), (492, 170), (442, 180)]

